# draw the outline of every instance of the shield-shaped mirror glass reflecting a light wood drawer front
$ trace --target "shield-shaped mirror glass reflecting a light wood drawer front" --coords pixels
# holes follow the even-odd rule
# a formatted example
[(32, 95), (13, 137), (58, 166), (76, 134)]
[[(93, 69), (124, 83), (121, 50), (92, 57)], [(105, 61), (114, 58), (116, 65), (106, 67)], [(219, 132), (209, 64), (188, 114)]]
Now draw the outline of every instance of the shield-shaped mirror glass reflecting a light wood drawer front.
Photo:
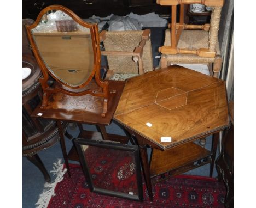
[(32, 34), (46, 67), (57, 79), (72, 87), (88, 80), (94, 68), (89, 28), (61, 10), (51, 10), (43, 15)]

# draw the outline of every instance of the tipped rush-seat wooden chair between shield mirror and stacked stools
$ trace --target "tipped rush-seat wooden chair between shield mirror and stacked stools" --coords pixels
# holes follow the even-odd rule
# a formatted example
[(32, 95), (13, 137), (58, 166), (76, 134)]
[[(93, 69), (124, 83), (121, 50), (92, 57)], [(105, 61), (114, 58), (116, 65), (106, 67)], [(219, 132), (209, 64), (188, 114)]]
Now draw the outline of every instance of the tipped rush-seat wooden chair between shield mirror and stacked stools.
[(106, 79), (125, 80), (153, 71), (150, 30), (105, 31), (100, 33), (107, 56)]

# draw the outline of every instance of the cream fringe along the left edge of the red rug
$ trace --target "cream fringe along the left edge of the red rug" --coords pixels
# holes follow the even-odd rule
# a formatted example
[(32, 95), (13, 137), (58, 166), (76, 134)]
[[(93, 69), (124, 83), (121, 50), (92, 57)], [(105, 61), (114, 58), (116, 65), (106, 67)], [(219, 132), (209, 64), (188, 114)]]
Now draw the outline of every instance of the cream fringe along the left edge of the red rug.
[(50, 172), (53, 173), (53, 175), (56, 175), (56, 178), (52, 183), (48, 183), (48, 182), (44, 183), (43, 193), (39, 195), (39, 199), (35, 204), (37, 205), (36, 208), (44, 208), (48, 206), (51, 197), (55, 196), (55, 192), (54, 192), (55, 186), (57, 185), (57, 183), (62, 181), (63, 175), (67, 171), (67, 168), (63, 169), (63, 163), (61, 159), (57, 160), (53, 164), (54, 164), (53, 170), (51, 170)]

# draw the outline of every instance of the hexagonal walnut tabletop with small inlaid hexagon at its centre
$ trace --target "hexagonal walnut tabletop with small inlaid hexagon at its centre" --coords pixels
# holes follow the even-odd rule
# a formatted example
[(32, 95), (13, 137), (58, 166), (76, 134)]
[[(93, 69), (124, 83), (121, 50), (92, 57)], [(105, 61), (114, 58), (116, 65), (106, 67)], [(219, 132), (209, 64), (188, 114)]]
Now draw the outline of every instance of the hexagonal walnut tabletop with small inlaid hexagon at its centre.
[(148, 72), (127, 80), (114, 119), (169, 149), (229, 126), (225, 82), (181, 66)]

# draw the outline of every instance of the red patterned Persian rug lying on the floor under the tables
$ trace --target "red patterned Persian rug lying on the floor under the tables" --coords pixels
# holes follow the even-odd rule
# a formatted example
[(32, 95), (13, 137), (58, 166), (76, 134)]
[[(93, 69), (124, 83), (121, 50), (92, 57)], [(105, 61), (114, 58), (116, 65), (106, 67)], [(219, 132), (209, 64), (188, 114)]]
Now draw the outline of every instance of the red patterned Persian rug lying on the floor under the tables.
[[(62, 171), (62, 179), (56, 183), (55, 193), (48, 200), (42, 199), (48, 192), (41, 194), (38, 207), (224, 207), (226, 189), (224, 183), (213, 178), (192, 175), (178, 175), (153, 185), (154, 200), (148, 197), (143, 182), (144, 201), (132, 201), (102, 194), (91, 193), (84, 173), (79, 165), (71, 164), (71, 175)], [(63, 166), (62, 166), (63, 169)], [(49, 194), (48, 194), (49, 195)], [(39, 200), (39, 201), (40, 201)]]

